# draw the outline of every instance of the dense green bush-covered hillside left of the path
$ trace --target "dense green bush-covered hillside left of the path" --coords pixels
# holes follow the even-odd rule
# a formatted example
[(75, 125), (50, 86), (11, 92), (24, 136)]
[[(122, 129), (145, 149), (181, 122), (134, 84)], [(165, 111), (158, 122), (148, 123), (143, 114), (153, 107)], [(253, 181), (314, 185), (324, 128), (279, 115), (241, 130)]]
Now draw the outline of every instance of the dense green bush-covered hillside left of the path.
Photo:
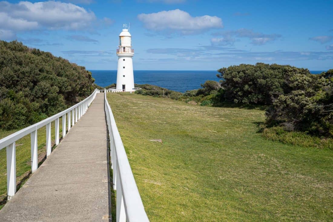
[(0, 127), (14, 129), (53, 115), (91, 94), (84, 67), (17, 41), (0, 41)]

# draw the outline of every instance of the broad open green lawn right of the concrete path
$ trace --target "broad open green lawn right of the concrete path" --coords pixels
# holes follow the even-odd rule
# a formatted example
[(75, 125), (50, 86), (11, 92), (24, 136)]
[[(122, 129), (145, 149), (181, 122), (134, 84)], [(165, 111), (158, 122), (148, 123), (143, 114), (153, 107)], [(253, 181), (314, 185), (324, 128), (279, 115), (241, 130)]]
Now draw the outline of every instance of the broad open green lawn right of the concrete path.
[(333, 220), (332, 151), (264, 139), (263, 111), (108, 100), (152, 222)]

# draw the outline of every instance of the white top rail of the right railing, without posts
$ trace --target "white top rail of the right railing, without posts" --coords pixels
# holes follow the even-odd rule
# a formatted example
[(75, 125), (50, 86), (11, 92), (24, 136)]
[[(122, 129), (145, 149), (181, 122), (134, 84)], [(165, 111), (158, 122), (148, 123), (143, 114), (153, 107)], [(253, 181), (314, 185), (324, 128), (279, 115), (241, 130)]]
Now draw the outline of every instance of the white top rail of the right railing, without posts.
[[(120, 137), (115, 118), (113, 116), (111, 107), (106, 98), (106, 94), (104, 94), (104, 103), (106, 109), (108, 110), (108, 114), (111, 122), (111, 131), (115, 141), (115, 151), (116, 158), (118, 163), (118, 170), (120, 174), (121, 182), (117, 182), (122, 186), (122, 194), (124, 198), (124, 205), (126, 211), (126, 218), (129, 222), (149, 222), (148, 216), (146, 214), (144, 205), (142, 203), (140, 193), (135, 182), (132, 169), (130, 163), (128, 161), (126, 151), (124, 148), (123, 141)], [(117, 185), (119, 186), (119, 185)]]

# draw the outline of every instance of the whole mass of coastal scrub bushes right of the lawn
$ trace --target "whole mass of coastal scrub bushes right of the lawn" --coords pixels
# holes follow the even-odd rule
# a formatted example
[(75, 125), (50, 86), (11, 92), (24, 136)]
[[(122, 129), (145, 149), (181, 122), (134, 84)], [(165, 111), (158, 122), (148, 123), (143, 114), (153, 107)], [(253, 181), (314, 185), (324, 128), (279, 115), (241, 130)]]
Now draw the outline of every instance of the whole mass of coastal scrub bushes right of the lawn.
[(221, 102), (269, 105), (267, 126), (333, 137), (333, 69), (314, 75), (308, 69), (257, 63), (218, 72)]

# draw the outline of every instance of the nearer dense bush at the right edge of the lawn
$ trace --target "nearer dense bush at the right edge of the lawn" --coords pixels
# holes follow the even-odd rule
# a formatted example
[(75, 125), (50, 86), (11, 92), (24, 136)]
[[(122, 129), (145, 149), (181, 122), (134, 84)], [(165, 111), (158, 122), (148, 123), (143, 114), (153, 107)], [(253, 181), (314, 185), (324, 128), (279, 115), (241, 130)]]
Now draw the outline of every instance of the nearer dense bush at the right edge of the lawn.
[(333, 70), (320, 75), (295, 74), (291, 92), (280, 95), (266, 112), (269, 126), (333, 137)]

